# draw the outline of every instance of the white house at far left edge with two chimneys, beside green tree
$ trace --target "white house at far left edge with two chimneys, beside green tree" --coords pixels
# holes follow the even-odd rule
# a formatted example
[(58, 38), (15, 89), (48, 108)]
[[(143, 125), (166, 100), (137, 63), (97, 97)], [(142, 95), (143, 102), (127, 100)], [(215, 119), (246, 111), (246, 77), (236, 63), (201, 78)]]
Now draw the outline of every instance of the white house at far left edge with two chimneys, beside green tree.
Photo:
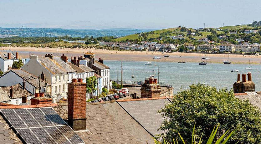
[(20, 56), (18, 52), (14, 53), (11, 50), (0, 50), (0, 70), (5, 72), (12, 67), (14, 61), (22, 60), (22, 63), (25, 64), (27, 59)]

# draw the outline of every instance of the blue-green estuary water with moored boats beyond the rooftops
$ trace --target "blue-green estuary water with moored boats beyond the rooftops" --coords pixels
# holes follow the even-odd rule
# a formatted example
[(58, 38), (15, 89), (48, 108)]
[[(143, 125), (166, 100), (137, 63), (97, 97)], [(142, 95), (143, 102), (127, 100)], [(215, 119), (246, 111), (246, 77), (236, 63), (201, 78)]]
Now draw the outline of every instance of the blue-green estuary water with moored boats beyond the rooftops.
[[(153, 65), (144, 65), (147, 62), (139, 61), (122, 61), (123, 62), (123, 80), (132, 80), (133, 75), (136, 81), (144, 81), (145, 77), (154, 74), (154, 78), (158, 78), (158, 66), (160, 70), (160, 82), (173, 86), (173, 92), (176, 93), (181, 89), (188, 89), (193, 83), (205, 83), (215, 86), (217, 89), (226, 87), (228, 90), (233, 88), (234, 82), (237, 81), (237, 72), (231, 72), (238, 69), (240, 74), (252, 73), (252, 80), (256, 85), (255, 90), (261, 91), (261, 65), (252, 64), (252, 70), (244, 68), (249, 67), (248, 64), (214, 64), (199, 65), (198, 63), (177, 62), (152, 62)], [(117, 80), (121, 78), (121, 61), (104, 61), (104, 64), (110, 67), (110, 79)], [(242, 75), (240, 80), (242, 80)]]

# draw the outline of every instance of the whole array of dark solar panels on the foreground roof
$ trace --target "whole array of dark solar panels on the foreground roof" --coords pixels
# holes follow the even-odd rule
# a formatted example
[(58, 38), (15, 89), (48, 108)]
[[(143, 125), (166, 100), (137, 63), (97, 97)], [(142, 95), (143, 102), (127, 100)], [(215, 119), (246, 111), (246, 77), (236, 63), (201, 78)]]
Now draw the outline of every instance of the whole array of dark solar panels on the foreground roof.
[(84, 143), (51, 107), (0, 111), (27, 144)]

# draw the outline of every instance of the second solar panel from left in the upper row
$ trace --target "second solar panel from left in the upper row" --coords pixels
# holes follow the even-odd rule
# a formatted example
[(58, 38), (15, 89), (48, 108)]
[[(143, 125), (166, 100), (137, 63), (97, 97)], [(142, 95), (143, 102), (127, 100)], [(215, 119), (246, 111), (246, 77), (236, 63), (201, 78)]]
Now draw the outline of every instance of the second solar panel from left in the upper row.
[(33, 116), (31, 116), (26, 109), (14, 109), (14, 111), (18, 114), (18, 116), (20, 116), (28, 127), (40, 127), (38, 122), (35, 121)]

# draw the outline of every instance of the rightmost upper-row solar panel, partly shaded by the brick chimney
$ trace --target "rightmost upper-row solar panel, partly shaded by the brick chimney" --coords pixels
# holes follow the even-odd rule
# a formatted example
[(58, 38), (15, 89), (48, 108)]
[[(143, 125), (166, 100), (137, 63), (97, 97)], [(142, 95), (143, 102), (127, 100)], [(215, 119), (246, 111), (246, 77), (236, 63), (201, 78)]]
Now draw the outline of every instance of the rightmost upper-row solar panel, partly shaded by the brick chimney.
[(41, 111), (54, 123), (55, 126), (65, 125), (66, 122), (54, 111), (54, 109), (47, 107), (41, 108)]

